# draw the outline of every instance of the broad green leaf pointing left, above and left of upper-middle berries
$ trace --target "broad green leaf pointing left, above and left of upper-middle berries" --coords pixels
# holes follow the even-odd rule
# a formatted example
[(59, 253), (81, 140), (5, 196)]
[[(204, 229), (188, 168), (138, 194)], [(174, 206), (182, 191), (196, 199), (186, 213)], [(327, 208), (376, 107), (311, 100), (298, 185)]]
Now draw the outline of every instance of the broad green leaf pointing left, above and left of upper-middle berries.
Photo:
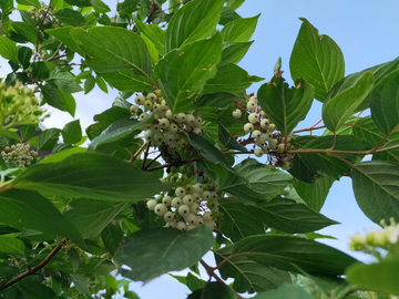
[(130, 71), (150, 78), (149, 49), (133, 31), (116, 27), (93, 27), (88, 30), (72, 29), (71, 34), (86, 53), (88, 65), (95, 72)]

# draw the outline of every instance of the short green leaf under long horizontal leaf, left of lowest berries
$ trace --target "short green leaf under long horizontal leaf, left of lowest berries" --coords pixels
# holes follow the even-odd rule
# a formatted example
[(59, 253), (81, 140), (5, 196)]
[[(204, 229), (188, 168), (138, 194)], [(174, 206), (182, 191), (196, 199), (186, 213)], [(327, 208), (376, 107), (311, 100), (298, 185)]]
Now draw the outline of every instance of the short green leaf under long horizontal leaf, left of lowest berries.
[(94, 238), (124, 207), (124, 203), (80, 198), (69, 203), (63, 215), (83, 238)]

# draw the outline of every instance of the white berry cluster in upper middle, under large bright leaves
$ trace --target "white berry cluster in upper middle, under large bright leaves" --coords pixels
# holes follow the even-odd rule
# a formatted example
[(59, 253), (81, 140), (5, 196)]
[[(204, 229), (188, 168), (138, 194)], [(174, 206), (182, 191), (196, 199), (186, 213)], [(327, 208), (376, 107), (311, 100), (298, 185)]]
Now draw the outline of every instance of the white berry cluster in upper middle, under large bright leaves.
[(165, 143), (185, 147), (188, 145), (188, 141), (181, 134), (182, 132), (202, 134), (201, 116), (183, 112), (172, 114), (166, 101), (162, 99), (160, 90), (149, 93), (146, 97), (136, 95), (134, 102), (131, 112), (140, 120), (145, 120), (150, 117), (151, 113), (154, 113), (154, 122), (144, 127), (144, 138), (151, 141), (154, 146)]

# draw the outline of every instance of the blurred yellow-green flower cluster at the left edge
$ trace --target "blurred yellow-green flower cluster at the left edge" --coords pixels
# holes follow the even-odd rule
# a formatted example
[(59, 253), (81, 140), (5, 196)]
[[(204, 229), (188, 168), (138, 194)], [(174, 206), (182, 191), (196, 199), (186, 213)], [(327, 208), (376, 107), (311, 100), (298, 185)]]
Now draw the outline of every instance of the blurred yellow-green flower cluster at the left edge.
[(14, 86), (6, 89), (6, 84), (0, 84), (0, 125), (2, 128), (23, 124), (37, 124), (44, 117), (44, 113), (39, 106), (38, 99), (27, 86), (21, 86), (17, 82)]

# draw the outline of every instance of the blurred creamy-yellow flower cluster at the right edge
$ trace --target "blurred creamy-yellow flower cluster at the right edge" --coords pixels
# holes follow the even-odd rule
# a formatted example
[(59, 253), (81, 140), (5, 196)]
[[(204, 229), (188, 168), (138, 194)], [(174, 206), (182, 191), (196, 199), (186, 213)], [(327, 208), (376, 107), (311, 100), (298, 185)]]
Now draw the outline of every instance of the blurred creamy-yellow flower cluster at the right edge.
[(378, 247), (386, 250), (391, 250), (395, 247), (398, 247), (399, 240), (399, 224), (396, 224), (395, 219), (390, 219), (390, 225), (386, 225), (381, 220), (382, 230), (371, 230), (366, 235), (361, 236), (359, 233), (356, 233), (350, 237), (350, 249), (362, 251), (367, 250), (369, 247)]

